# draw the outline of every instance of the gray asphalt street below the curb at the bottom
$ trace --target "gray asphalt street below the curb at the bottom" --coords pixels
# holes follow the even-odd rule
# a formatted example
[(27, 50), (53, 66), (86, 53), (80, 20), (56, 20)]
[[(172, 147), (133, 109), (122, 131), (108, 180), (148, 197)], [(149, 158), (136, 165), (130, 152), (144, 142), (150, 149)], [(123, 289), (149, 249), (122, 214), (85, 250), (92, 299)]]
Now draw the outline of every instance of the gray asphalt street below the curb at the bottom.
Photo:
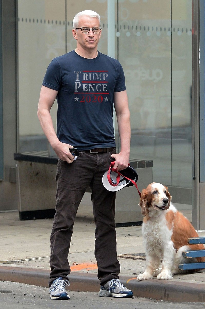
[(150, 298), (102, 298), (94, 292), (69, 292), (69, 300), (50, 300), (49, 289), (23, 283), (0, 281), (3, 309), (201, 309), (205, 303), (171, 303)]

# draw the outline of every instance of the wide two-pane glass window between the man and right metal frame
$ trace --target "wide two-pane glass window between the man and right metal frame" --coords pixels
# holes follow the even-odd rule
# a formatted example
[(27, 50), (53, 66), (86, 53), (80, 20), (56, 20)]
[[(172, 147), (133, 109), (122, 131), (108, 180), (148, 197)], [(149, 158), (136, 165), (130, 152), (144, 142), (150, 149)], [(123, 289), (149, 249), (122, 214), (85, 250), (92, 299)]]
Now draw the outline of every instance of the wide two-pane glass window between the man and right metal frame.
[(191, 6), (191, 0), (120, 1), (116, 34), (131, 158), (153, 160), (154, 181), (185, 188), (192, 185)]

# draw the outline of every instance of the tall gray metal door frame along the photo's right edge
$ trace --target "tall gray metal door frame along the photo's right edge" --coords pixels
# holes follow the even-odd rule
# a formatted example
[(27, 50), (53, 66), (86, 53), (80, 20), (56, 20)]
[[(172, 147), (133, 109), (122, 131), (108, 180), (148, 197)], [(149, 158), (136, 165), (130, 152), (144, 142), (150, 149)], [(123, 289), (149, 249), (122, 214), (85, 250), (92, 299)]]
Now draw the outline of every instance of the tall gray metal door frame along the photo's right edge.
[(197, 230), (205, 230), (204, 7), (204, 0), (192, 0), (192, 224)]

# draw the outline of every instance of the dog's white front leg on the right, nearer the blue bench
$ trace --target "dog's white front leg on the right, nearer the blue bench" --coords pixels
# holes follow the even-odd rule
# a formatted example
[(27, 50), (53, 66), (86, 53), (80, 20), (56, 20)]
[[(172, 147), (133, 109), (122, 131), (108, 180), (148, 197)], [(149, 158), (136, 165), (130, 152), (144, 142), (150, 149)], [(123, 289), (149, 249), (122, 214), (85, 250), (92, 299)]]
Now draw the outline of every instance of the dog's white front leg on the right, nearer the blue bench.
[(168, 243), (164, 248), (163, 252), (163, 261), (162, 261), (162, 270), (157, 276), (159, 280), (167, 280), (172, 279), (172, 271), (175, 260), (175, 249), (173, 247), (173, 243)]

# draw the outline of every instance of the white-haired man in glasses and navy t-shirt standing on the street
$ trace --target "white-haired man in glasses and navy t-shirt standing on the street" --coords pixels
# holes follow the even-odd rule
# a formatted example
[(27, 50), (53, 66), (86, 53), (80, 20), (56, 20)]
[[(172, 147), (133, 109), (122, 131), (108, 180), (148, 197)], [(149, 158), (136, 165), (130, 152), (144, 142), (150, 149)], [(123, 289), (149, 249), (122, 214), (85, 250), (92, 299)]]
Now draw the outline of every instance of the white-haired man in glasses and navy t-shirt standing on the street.
[[(75, 50), (53, 59), (47, 68), (38, 103), (42, 129), (58, 156), (56, 214), (50, 236), (50, 298), (69, 299), (70, 266), (67, 256), (74, 220), (88, 185), (91, 189), (101, 297), (131, 297), (119, 281), (115, 231), (115, 193), (102, 185), (102, 176), (114, 168), (125, 169), (130, 154), (130, 112), (124, 73), (119, 61), (98, 52), (100, 16), (94, 11), (78, 13), (72, 30)], [(50, 109), (58, 101), (57, 135)], [(121, 141), (116, 154), (113, 102)], [(76, 147), (74, 160), (69, 148)]]

